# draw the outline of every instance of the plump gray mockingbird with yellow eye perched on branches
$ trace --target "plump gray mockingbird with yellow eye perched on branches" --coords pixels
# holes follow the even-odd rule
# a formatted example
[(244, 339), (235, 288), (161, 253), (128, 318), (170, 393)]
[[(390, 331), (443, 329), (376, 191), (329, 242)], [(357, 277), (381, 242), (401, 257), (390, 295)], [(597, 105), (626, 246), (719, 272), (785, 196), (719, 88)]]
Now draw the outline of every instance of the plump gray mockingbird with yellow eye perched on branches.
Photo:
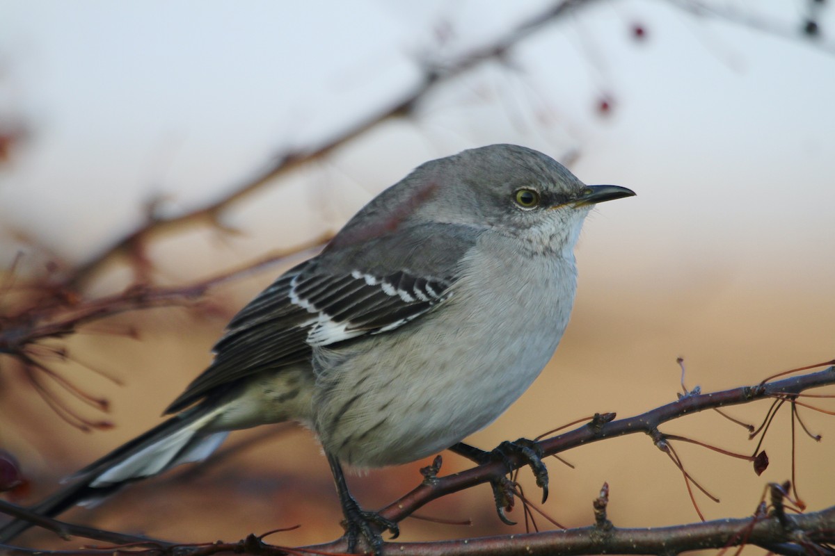
[(359, 507), (341, 463), (425, 458), (503, 413), (569, 322), (586, 214), (634, 194), (514, 145), (424, 163), (232, 318), (209, 368), (165, 410), (174, 417), (33, 510), (54, 515), (206, 458), (230, 430), (296, 420), (331, 464), (349, 550), (362, 536), (379, 552), (377, 528), (397, 524)]

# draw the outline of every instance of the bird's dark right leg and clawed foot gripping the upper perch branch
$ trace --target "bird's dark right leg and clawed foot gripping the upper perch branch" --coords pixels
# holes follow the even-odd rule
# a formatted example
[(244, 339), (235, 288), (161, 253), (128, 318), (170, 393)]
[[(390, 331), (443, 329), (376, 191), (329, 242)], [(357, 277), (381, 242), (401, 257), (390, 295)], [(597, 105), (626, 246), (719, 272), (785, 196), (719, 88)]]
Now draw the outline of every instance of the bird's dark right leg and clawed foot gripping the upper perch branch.
[[(501, 461), (504, 463), (504, 466), (508, 468), (508, 473), (513, 470), (513, 466), (510, 464), (509, 458), (513, 455), (523, 458), (525, 463), (528, 463), (530, 468), (533, 470), (534, 477), (536, 477), (536, 484), (542, 488), (543, 503), (548, 499), (548, 468), (545, 467), (545, 464), (542, 461), (542, 458), (544, 457), (542, 448), (540, 448), (539, 443), (534, 440), (519, 438), (519, 440), (515, 442), (504, 441), (499, 444), (497, 448), (493, 449), (492, 452), (485, 452), (463, 442), (459, 442), (451, 446), (449, 449), (450, 451), (458, 453), (458, 455), (468, 458), (478, 464)], [(498, 518), (504, 523), (514, 525), (515, 523), (504, 513), (505, 508), (513, 507), (514, 484), (507, 478), (503, 478), (500, 481), (490, 481), (490, 486), (493, 487), (493, 498), (496, 502), (496, 512), (498, 513)]]

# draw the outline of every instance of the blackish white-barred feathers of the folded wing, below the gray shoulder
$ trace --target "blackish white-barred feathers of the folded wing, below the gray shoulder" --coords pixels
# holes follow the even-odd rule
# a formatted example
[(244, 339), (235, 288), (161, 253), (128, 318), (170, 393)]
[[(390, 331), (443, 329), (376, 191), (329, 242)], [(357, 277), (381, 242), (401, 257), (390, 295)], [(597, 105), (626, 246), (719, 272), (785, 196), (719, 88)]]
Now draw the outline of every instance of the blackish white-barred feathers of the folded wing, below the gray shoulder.
[(215, 344), (215, 360), (175, 399), (174, 413), (240, 378), (309, 360), (313, 346), (393, 330), (448, 298), (451, 278), (397, 271), (322, 273), (312, 259), (276, 280), (240, 313)]

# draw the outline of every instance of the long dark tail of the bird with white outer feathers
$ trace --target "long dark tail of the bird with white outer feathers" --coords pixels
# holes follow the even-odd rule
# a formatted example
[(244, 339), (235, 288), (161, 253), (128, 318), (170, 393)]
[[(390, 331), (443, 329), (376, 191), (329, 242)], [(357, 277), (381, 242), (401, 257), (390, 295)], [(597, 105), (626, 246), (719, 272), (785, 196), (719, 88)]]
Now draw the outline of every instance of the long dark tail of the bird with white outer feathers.
[[(30, 509), (53, 517), (76, 504), (94, 505), (129, 483), (180, 463), (207, 458), (228, 434), (205, 430), (221, 410), (201, 403), (175, 415), (74, 473), (66, 479), (67, 486)], [(0, 528), (0, 543), (8, 543), (31, 526), (23, 519), (14, 519)]]

